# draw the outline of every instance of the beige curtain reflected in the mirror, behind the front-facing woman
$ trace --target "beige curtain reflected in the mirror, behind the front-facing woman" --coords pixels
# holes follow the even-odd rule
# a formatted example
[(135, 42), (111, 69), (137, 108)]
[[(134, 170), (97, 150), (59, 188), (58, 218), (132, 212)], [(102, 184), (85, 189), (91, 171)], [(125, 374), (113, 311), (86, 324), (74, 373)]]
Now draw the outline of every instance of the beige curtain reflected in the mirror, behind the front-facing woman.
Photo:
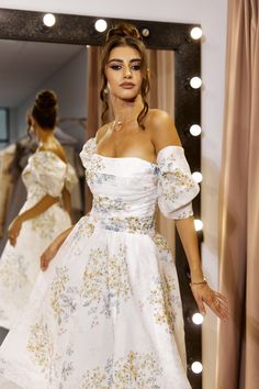
[[(88, 48), (88, 138), (94, 136), (101, 125), (100, 47)], [(174, 53), (171, 51), (147, 51), (150, 70), (150, 108), (169, 112), (174, 119)], [(112, 113), (110, 112), (110, 115)], [(87, 189), (87, 211), (91, 209), (91, 193)], [(174, 249), (174, 224), (157, 213), (157, 229)]]

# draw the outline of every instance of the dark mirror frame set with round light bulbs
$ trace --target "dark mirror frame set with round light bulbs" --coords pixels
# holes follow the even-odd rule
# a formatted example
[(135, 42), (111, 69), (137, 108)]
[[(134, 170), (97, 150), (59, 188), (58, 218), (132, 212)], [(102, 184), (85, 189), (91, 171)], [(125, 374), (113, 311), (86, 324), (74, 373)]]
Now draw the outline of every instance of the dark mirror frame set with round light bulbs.
[[(94, 29), (98, 19), (104, 19), (108, 27), (120, 21), (136, 25), (143, 34), (147, 48), (174, 51), (174, 118), (182, 145), (184, 147), (192, 171), (201, 169), (201, 137), (191, 136), (189, 129), (192, 124), (201, 123), (201, 90), (189, 86), (190, 78), (201, 77), (201, 41), (194, 41), (190, 31), (199, 24), (165, 23), (156, 21), (113, 19), (105, 16), (87, 16), (77, 14), (55, 13), (56, 24), (46, 27), (43, 16), (46, 12), (23, 11), (0, 8), (0, 38), (33, 42), (64, 43), (75, 45), (102, 45), (105, 32)], [(143, 34), (144, 35), (144, 34)], [(194, 216), (201, 215), (200, 196), (193, 200)], [(199, 234), (201, 245), (202, 234)], [(179, 235), (176, 237), (177, 270), (180, 280), (180, 291), (183, 303), (188, 376), (193, 389), (202, 388), (202, 375), (194, 375), (190, 369), (193, 360), (201, 360), (201, 327), (193, 325), (191, 316), (198, 311), (189, 287), (189, 267)]]

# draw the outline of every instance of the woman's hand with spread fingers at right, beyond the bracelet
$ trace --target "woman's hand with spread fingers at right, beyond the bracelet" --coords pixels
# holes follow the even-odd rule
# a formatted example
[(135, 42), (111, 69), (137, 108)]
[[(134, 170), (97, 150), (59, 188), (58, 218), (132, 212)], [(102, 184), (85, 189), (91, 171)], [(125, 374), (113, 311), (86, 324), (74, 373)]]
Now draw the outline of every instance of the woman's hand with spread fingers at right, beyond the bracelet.
[(206, 304), (219, 319), (228, 319), (228, 302), (223, 294), (212, 290), (206, 282), (198, 285), (190, 284), (190, 286), (198, 308), (203, 315), (206, 314)]

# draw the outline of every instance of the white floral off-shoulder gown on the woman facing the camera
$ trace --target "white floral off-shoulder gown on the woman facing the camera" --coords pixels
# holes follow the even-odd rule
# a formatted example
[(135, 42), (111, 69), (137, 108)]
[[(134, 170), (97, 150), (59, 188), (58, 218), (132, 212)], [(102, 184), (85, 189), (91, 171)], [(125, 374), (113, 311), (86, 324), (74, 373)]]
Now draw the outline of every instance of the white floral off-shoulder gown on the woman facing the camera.
[(190, 389), (176, 267), (154, 231), (157, 198), (167, 216), (192, 214), (183, 149), (156, 165), (100, 156), (92, 138), (81, 158), (92, 211), (38, 277), (0, 371), (30, 389)]

